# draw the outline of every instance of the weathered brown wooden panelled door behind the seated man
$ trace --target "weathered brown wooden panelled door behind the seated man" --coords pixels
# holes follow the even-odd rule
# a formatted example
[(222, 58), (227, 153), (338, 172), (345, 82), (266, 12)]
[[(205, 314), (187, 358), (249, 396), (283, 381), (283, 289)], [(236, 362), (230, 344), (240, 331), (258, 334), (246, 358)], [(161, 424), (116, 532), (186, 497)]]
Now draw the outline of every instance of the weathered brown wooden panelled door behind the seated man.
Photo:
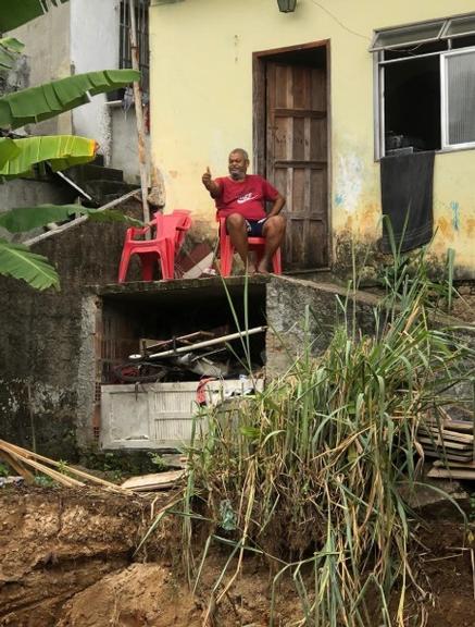
[(286, 196), (285, 270), (328, 266), (324, 69), (266, 63), (266, 175)]

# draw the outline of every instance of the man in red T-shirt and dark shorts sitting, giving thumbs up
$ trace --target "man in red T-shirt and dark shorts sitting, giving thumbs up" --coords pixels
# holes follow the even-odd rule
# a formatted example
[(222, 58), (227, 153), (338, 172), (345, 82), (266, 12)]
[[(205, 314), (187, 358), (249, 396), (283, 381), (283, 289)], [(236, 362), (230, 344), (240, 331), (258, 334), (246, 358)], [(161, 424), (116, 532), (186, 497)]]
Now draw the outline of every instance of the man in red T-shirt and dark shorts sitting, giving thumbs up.
[[(280, 216), (285, 198), (265, 179), (247, 174), (249, 157), (242, 148), (229, 153), (229, 176), (213, 181), (210, 169), (202, 175), (204, 187), (214, 198), (218, 218), (226, 218), (233, 246), (250, 274), (267, 273), (274, 253), (280, 246), (286, 220)], [(265, 201), (273, 201), (265, 212)], [(264, 237), (264, 255), (258, 267), (248, 258), (248, 237)]]

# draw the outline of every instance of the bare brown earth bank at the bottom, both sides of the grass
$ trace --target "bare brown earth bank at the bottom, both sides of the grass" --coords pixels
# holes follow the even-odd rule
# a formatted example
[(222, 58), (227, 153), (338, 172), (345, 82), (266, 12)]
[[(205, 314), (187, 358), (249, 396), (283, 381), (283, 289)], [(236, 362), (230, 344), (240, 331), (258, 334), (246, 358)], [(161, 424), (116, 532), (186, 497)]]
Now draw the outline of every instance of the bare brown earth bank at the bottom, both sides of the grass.
[[(434, 599), (433, 604), (424, 599), (427, 627), (471, 627), (475, 615), (471, 550), (461, 549), (467, 546), (466, 529), (453, 507), (438, 513), (428, 515), (420, 534), (425, 546), (423, 587)], [(210, 552), (199, 597), (193, 598), (175, 567), (180, 564), (179, 533), (171, 539), (174, 544), (172, 550), (167, 546), (166, 557), (133, 564), (149, 515), (147, 501), (104, 492), (1, 490), (0, 626), (201, 626), (229, 553)], [(164, 537), (160, 543), (166, 543)], [(228, 564), (224, 585), (234, 568)], [(221, 604), (212, 606), (213, 625), (268, 625), (271, 587), (268, 565), (248, 556)], [(295, 625), (301, 616), (289, 575), (277, 590), (276, 624)]]

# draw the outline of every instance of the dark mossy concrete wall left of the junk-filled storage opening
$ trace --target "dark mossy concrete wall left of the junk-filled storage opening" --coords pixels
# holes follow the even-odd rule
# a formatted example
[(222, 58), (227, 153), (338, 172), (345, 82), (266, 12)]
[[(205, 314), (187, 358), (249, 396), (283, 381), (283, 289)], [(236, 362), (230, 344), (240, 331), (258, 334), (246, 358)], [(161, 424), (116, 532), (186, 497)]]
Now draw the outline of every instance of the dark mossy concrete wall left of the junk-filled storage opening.
[[(132, 212), (139, 205), (130, 205)], [(57, 266), (61, 291), (0, 276), (0, 432), (57, 458), (74, 456), (87, 361), (85, 286), (116, 281), (123, 224), (85, 222), (34, 246)], [(83, 366), (82, 366), (83, 365)], [(83, 369), (82, 369), (83, 368)], [(93, 393), (93, 390), (92, 390)]]

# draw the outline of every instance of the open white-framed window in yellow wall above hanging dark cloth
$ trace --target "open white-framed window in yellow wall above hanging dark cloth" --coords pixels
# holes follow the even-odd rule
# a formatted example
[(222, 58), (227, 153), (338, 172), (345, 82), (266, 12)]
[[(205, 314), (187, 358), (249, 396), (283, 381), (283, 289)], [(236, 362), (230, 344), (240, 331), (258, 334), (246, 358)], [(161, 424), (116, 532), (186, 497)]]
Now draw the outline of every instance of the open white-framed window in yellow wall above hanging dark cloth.
[(475, 148), (475, 14), (375, 32), (376, 157)]

